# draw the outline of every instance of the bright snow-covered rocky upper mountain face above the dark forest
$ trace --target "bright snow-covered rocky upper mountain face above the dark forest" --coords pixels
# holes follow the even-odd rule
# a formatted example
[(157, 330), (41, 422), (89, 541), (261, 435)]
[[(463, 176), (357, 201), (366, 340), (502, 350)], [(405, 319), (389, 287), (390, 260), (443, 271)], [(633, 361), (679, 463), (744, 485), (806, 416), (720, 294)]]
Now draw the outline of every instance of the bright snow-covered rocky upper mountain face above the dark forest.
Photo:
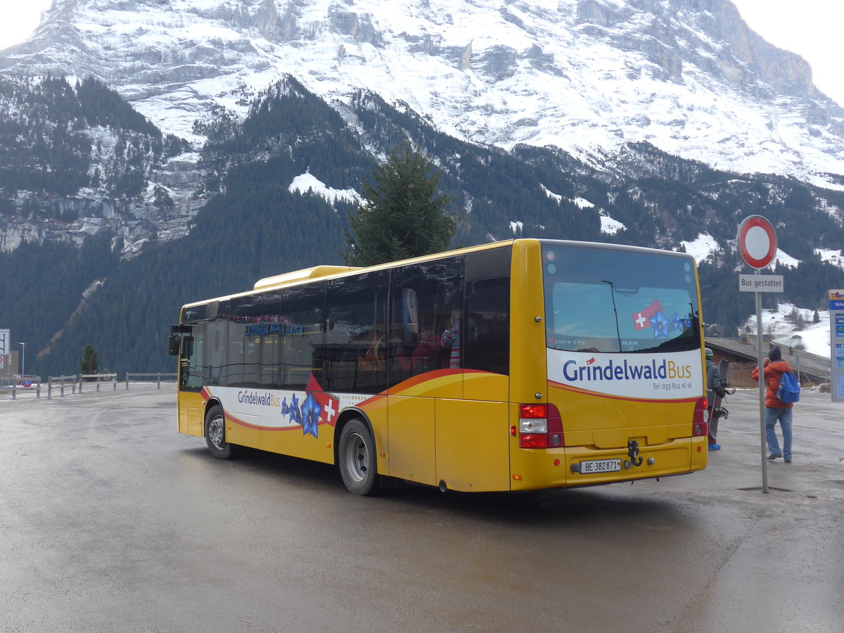
[(163, 131), (289, 73), (355, 89), (457, 138), (553, 145), (605, 165), (625, 143), (844, 188), (844, 110), (808, 62), (729, 0), (54, 0), (0, 70), (100, 78)]

